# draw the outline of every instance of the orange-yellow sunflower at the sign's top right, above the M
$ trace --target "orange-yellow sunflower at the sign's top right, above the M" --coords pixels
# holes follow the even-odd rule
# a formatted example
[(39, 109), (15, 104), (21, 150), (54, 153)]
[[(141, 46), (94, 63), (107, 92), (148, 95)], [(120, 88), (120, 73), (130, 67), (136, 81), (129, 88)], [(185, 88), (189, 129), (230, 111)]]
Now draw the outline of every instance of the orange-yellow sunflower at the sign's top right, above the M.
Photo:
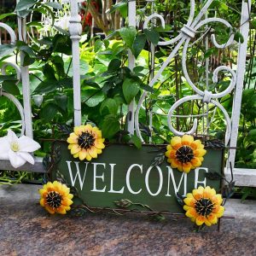
[(201, 166), (203, 156), (207, 154), (204, 145), (200, 140), (194, 140), (190, 135), (183, 137), (172, 137), (171, 143), (167, 146), (166, 157), (172, 168), (180, 172), (190, 172)]

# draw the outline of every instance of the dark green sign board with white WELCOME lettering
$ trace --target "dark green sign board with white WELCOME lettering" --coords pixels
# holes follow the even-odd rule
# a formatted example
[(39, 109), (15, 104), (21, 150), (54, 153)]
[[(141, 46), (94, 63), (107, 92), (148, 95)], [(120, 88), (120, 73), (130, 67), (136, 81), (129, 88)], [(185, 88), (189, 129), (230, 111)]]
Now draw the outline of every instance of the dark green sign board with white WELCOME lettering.
[(56, 179), (56, 172), (61, 172), (90, 207), (116, 209), (115, 201), (128, 199), (156, 212), (178, 213), (183, 212), (183, 208), (177, 203), (177, 192), (186, 195), (200, 185), (217, 191), (221, 187), (220, 179), (209, 179), (206, 175), (222, 174), (223, 150), (219, 149), (207, 148), (202, 166), (186, 174), (172, 169), (166, 160), (160, 166), (151, 166), (159, 154), (159, 148), (151, 145), (137, 149), (131, 145), (110, 144), (90, 162), (74, 159), (66, 142), (55, 142), (54, 148), (59, 148), (61, 160), (52, 172), (52, 179)]

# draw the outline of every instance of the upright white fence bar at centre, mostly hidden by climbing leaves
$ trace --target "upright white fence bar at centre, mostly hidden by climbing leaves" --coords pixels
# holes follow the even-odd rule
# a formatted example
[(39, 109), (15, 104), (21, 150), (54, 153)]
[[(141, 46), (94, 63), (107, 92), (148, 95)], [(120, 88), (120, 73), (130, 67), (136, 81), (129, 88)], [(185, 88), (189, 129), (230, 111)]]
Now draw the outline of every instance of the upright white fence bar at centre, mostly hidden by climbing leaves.
[[(128, 2), (128, 22), (129, 26), (136, 26), (136, 1)], [(128, 67), (132, 70), (135, 66), (135, 57), (128, 49)], [(128, 131), (134, 134), (134, 111), (135, 111), (135, 100), (133, 100), (128, 107)]]

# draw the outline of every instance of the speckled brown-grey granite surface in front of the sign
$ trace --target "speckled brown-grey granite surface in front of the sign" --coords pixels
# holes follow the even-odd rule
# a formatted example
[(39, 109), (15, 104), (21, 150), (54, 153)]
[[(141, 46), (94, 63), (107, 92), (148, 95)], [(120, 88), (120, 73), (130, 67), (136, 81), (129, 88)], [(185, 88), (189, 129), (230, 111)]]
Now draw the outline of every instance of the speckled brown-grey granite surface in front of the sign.
[(187, 219), (49, 216), (37, 186), (0, 186), (0, 255), (256, 255), (256, 218), (223, 219), (201, 233)]

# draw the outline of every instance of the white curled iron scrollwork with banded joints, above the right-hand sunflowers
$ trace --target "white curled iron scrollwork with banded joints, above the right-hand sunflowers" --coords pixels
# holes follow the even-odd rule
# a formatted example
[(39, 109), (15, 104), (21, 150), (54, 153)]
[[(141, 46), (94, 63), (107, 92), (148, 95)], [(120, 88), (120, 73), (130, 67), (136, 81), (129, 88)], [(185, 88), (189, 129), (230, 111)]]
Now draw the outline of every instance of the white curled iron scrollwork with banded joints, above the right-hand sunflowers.
[[(174, 117), (173, 113), (175, 111), (175, 109), (177, 107), (179, 107), (180, 105), (182, 105), (184, 102), (189, 102), (189, 101), (195, 101), (195, 100), (201, 100), (204, 103), (212, 103), (215, 107), (219, 108), (223, 113), (224, 113), (224, 119), (226, 120), (226, 125), (227, 125), (227, 129), (226, 129), (226, 136), (225, 136), (225, 144), (227, 145), (230, 141), (230, 134), (231, 134), (231, 121), (230, 121), (230, 116), (229, 114), (226, 112), (226, 110), (224, 109), (224, 107), (215, 99), (221, 98), (226, 96), (227, 94), (229, 94), (232, 90), (234, 90), (234, 87), (236, 85), (236, 73), (230, 68), (230, 67), (225, 67), (225, 66), (221, 66), (221, 67), (217, 67), (215, 69), (215, 71), (213, 72), (213, 83), (217, 83), (218, 82), (218, 74), (220, 72), (224, 73), (225, 75), (227, 73), (230, 74), (230, 84), (228, 86), (228, 88), (220, 93), (212, 93), (208, 90), (202, 91), (199, 88), (196, 87), (196, 85), (191, 81), (191, 79), (189, 78), (189, 73), (187, 71), (187, 52), (188, 52), (188, 48), (189, 48), (189, 43), (191, 41), (192, 38), (195, 38), (196, 34), (199, 32), (199, 29), (202, 26), (207, 26), (208, 24), (212, 23), (212, 22), (218, 22), (223, 24), (224, 26), (226, 26), (227, 28), (232, 28), (232, 26), (230, 25), (230, 23), (224, 19), (220, 19), (220, 18), (207, 18), (205, 20), (201, 20), (202, 17), (207, 13), (207, 9), (209, 8), (209, 6), (212, 4), (213, 0), (209, 0), (207, 1), (207, 3), (205, 3), (205, 5), (203, 6), (203, 8), (201, 9), (201, 12), (195, 17), (195, 0), (190, 0), (190, 13), (189, 13), (189, 20), (187, 22), (187, 24), (185, 24), (183, 26), (183, 28), (181, 29), (181, 32), (177, 35), (176, 38), (172, 38), (172, 40), (163, 42), (160, 41), (158, 43), (158, 45), (170, 45), (170, 44), (176, 44), (174, 49), (172, 49), (171, 54), (167, 57), (166, 61), (163, 63), (163, 65), (160, 67), (160, 70), (158, 71), (158, 73), (156, 73), (154, 75), (154, 78), (150, 81), (150, 83), (148, 84), (150, 87), (152, 87), (157, 80), (160, 78), (161, 73), (163, 73), (163, 71), (165, 70), (165, 68), (167, 67), (167, 65), (170, 63), (170, 61), (172, 61), (172, 58), (177, 54), (178, 49), (180, 49), (183, 46), (183, 54), (182, 54), (182, 67), (183, 67), (183, 74), (185, 79), (187, 80), (187, 82), (189, 83), (189, 85), (191, 86), (191, 88), (195, 91), (196, 95), (194, 96), (185, 96), (182, 99), (178, 100), (177, 102), (175, 102), (172, 105), (172, 108), (169, 110), (168, 113), (168, 126), (170, 128), (170, 130), (176, 134), (176, 135), (183, 135), (183, 134), (194, 134), (196, 129), (197, 129), (197, 124), (198, 124), (198, 120), (194, 119), (194, 124), (193, 127), (190, 131), (177, 131), (173, 126), (172, 126), (172, 117)], [(153, 19), (160, 19), (161, 25), (163, 27), (165, 27), (165, 21), (163, 19), (163, 17), (161, 15), (150, 15), (148, 16), (148, 18), (145, 20), (143, 27), (147, 28), (148, 27), (148, 23), (150, 20)], [(231, 29), (230, 29), (231, 31)], [(228, 39), (228, 41), (225, 44), (218, 44), (216, 37), (214, 34), (212, 34), (211, 36), (211, 41), (212, 44), (218, 48), (218, 49), (224, 49), (228, 46), (230, 46), (230, 44), (233, 44), (234, 42), (234, 34), (230, 32), (230, 38)], [(146, 98), (146, 96), (148, 95), (148, 92), (145, 91), (143, 93), (143, 96), (140, 98), (138, 105), (137, 105), (137, 110), (135, 113), (135, 130), (137, 132), (137, 136), (140, 137), (140, 139), (143, 141), (143, 137), (141, 135), (141, 131), (139, 129), (139, 111), (141, 108), (143, 108), (143, 102)], [(204, 115), (204, 114), (203, 114)], [(180, 116), (183, 117), (183, 116)]]

